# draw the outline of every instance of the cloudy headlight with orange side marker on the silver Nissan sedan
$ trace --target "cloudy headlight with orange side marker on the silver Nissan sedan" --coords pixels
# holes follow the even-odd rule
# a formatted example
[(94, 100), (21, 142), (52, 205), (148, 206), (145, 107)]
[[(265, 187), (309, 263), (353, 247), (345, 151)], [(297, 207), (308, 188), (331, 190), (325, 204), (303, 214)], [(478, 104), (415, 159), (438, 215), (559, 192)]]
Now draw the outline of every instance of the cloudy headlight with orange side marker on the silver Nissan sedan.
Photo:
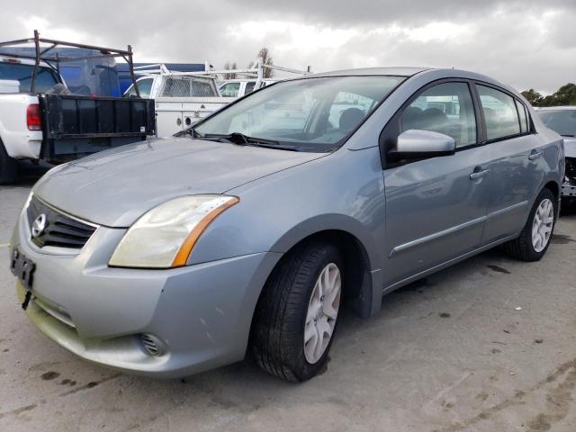
[(109, 266), (184, 266), (202, 232), (238, 202), (235, 196), (188, 195), (164, 202), (136, 220), (114, 250)]

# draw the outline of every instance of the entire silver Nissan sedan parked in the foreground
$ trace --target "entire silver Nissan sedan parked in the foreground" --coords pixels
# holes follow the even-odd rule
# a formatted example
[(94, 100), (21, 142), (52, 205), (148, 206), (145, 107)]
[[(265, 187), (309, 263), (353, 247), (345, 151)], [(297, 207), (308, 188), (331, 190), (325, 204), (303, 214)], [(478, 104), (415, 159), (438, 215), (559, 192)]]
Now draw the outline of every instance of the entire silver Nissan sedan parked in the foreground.
[(348, 307), (504, 245), (550, 244), (563, 140), (507, 85), (374, 68), (266, 86), (181, 136), (58, 166), (14, 229), (49, 338), (134, 374), (244, 358), (305, 381)]

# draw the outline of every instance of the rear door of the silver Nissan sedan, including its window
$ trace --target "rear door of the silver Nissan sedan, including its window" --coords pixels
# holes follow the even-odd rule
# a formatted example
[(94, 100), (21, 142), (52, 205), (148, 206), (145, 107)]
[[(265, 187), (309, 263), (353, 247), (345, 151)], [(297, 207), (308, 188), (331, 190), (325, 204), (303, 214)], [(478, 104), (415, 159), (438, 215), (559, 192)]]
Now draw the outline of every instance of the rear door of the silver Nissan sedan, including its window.
[(529, 114), (513, 94), (481, 83), (475, 85), (486, 130), (490, 197), (482, 243), (518, 232), (544, 179), (543, 145), (533, 133)]

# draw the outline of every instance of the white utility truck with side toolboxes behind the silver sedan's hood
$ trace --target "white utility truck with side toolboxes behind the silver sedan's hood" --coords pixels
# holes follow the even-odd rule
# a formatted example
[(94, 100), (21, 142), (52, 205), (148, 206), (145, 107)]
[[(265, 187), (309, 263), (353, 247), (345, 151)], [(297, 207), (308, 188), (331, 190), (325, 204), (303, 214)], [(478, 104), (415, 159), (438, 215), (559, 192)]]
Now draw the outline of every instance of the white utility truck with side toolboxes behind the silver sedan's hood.
[[(213, 76), (171, 72), (164, 65), (158, 66), (158, 70), (136, 80), (140, 97), (154, 99), (158, 137), (172, 136), (232, 100), (220, 96)], [(124, 96), (136, 97), (134, 85), (128, 87)]]

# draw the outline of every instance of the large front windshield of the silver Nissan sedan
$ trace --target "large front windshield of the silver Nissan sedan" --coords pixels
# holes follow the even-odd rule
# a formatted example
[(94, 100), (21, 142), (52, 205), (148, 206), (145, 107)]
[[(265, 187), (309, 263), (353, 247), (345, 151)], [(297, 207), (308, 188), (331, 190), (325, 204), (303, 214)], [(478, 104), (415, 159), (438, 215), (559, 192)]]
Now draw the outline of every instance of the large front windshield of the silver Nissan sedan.
[(195, 135), (241, 134), (284, 148), (332, 151), (404, 79), (330, 76), (280, 82), (213, 114), (194, 128)]

